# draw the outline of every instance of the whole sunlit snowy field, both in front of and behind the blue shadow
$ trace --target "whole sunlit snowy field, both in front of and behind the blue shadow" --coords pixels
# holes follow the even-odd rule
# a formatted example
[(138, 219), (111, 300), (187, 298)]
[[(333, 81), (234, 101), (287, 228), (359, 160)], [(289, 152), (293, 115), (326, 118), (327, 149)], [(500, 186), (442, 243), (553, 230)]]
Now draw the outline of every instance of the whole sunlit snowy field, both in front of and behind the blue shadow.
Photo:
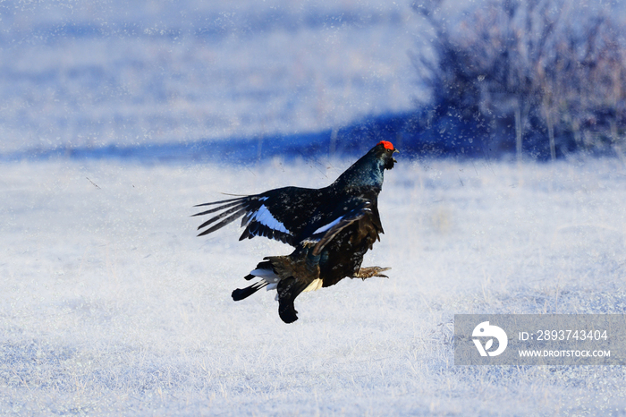
[(301, 294), (285, 325), (273, 293), (231, 293), (290, 248), (198, 238), (192, 206), (351, 161), (107, 154), (411, 111), (432, 36), (408, 1), (0, 1), (0, 414), (626, 415), (622, 367), (455, 367), (452, 345), (455, 313), (626, 312), (622, 159), (401, 153), (364, 262), (390, 278)]

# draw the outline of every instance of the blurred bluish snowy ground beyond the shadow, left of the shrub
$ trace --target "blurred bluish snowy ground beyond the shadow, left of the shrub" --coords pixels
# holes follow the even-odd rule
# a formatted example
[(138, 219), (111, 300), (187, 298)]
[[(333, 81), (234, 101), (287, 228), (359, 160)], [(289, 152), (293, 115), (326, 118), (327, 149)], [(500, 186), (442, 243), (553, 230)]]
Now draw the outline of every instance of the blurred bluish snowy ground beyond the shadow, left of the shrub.
[(0, 2), (0, 155), (406, 111), (419, 25), (409, 2), (380, 0)]

